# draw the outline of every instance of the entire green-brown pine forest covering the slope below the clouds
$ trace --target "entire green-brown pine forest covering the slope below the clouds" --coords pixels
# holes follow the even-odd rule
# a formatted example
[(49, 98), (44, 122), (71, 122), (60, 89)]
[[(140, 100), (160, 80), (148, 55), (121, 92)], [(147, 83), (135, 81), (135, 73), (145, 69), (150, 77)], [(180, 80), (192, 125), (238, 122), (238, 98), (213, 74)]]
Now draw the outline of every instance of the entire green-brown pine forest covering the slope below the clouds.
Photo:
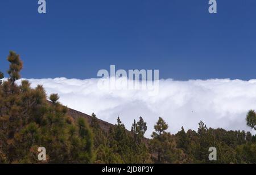
[[(0, 163), (256, 163), (256, 136), (250, 132), (212, 129), (199, 121), (197, 131), (181, 127), (171, 134), (159, 117), (147, 139), (142, 117), (127, 129), (117, 117), (109, 131), (94, 113), (90, 122), (75, 119), (59, 95), (47, 97), (42, 85), (31, 88), (28, 80), (15, 83), (23, 67), (18, 54), (10, 51), (7, 61), (9, 78), (1, 80), (0, 72)], [(254, 110), (243, 120), (256, 130)], [(46, 148), (46, 161), (38, 160), (39, 147)], [(209, 160), (209, 147), (216, 147), (216, 161)]]

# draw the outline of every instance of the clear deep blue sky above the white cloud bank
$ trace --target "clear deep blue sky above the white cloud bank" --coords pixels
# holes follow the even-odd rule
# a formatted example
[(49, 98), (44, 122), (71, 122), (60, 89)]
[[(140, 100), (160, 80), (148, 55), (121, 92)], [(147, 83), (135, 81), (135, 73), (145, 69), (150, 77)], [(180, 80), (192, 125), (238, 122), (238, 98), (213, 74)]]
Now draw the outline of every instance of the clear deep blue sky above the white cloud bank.
[(109, 69), (159, 69), (176, 80), (256, 78), (256, 1), (1, 0), (0, 70), (15, 50), (24, 78), (96, 78)]

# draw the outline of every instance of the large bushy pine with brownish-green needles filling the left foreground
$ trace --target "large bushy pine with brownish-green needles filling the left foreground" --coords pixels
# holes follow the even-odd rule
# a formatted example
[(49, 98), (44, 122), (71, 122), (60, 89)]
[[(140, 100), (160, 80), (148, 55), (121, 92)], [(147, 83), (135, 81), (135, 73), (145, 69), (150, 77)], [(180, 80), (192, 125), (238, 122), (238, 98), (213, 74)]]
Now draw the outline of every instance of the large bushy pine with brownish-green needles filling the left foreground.
[(27, 80), (17, 86), (22, 61), (10, 52), (9, 79), (0, 84), (0, 163), (40, 163), (38, 147), (47, 150), (45, 163), (92, 163), (93, 136), (84, 119), (67, 115), (57, 94), (47, 101), (42, 86)]

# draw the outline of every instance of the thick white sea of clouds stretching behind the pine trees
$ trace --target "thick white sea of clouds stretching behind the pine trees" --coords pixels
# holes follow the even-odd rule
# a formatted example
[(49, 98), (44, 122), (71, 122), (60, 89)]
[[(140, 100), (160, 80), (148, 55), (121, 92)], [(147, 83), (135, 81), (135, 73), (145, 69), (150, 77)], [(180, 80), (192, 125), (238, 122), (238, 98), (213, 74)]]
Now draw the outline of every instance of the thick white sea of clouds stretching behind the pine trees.
[[(208, 79), (159, 80), (159, 93), (143, 90), (98, 88), (99, 79), (28, 79), (32, 87), (42, 84), (47, 95), (58, 93), (69, 108), (116, 123), (119, 116), (128, 130), (140, 116), (147, 122), (149, 138), (158, 117), (163, 117), (170, 131), (197, 131), (203, 121), (208, 127), (252, 131), (246, 126), (246, 113), (256, 109), (256, 80)], [(254, 132), (255, 134), (255, 132)]]

